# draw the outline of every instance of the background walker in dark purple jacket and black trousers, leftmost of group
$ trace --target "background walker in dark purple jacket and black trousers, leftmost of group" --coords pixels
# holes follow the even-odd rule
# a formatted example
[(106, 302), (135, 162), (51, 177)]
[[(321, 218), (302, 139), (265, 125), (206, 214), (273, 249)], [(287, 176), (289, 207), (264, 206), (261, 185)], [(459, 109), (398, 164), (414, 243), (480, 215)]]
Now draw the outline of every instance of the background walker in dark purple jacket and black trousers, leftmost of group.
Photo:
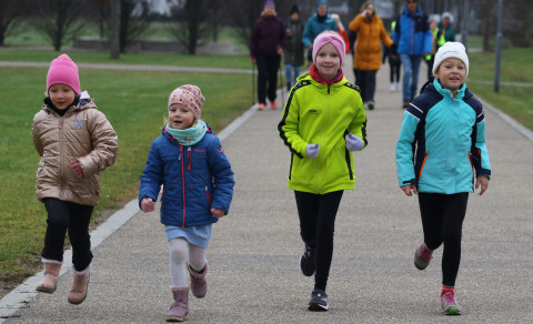
[(278, 107), (275, 104), (278, 70), (285, 45), (285, 24), (275, 13), (274, 1), (268, 0), (264, 2), (261, 18), (253, 26), (250, 40), (250, 59), (252, 63), (258, 64), (259, 110), (263, 110), (266, 105), (266, 95), (270, 100), (270, 108)]

